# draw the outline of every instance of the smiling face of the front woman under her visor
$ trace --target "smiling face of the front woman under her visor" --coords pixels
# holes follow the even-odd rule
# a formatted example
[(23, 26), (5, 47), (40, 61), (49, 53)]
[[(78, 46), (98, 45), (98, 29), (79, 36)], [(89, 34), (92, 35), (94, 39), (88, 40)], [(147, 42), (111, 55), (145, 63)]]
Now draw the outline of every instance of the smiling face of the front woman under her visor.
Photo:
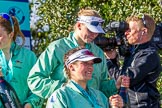
[(71, 71), (71, 79), (80, 83), (86, 82), (92, 78), (93, 64), (91, 61), (77, 61), (75, 64), (71, 64), (73, 71)]

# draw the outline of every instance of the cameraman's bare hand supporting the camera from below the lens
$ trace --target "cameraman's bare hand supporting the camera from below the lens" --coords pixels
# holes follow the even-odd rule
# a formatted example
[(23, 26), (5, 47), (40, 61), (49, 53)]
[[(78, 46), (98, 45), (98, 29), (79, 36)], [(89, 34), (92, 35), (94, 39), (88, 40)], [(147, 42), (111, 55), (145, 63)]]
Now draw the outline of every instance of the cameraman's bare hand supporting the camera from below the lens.
[(104, 54), (107, 59), (115, 59), (117, 57), (116, 49), (112, 49), (111, 51), (104, 51)]

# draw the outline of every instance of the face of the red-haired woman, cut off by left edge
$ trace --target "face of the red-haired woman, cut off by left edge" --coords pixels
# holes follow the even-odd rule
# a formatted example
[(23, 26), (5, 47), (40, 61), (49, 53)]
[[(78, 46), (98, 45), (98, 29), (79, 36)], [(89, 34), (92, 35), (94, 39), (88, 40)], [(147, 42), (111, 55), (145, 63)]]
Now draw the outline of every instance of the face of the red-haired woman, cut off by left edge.
[(0, 49), (5, 49), (10, 47), (11, 38), (9, 34), (5, 31), (5, 29), (0, 26)]

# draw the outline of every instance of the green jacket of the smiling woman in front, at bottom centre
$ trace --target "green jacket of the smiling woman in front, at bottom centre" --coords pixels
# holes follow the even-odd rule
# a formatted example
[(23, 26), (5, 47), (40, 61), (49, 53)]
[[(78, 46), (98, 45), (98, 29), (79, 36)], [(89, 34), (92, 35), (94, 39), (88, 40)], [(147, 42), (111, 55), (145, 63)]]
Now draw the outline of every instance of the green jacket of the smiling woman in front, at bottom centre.
[(101, 91), (88, 88), (87, 93), (88, 96), (69, 82), (50, 96), (46, 108), (109, 108), (107, 97)]

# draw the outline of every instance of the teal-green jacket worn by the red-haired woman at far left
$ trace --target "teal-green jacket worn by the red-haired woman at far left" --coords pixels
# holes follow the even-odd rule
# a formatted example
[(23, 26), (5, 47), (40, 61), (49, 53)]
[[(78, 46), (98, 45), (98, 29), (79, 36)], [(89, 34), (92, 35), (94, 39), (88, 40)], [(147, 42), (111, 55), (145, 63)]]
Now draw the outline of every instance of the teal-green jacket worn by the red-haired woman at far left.
[[(22, 105), (30, 103), (32, 108), (42, 108), (44, 99), (33, 94), (27, 85), (27, 77), (36, 62), (36, 55), (29, 49), (20, 47), (14, 42), (12, 43), (11, 51), (13, 76), (9, 81), (10, 85), (15, 89)], [(0, 108), (3, 108), (1, 102)]]

